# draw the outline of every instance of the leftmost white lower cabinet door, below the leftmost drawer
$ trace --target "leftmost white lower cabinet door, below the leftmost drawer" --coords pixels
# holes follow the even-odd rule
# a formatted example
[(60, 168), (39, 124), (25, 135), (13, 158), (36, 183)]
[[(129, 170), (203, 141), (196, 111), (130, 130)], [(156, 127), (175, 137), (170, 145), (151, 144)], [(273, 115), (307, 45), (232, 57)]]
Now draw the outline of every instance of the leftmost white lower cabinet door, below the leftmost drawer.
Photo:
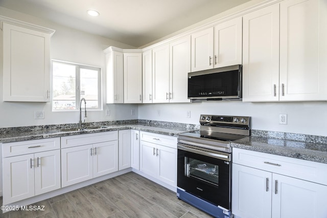
[(34, 196), (34, 155), (3, 159), (3, 205)]

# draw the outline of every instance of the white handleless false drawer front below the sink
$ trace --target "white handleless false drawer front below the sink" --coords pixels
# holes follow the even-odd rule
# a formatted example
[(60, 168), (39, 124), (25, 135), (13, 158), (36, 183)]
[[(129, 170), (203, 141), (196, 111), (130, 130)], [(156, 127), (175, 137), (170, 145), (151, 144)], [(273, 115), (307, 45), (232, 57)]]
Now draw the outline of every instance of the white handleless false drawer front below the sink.
[(61, 137), (61, 148), (118, 140), (118, 131)]

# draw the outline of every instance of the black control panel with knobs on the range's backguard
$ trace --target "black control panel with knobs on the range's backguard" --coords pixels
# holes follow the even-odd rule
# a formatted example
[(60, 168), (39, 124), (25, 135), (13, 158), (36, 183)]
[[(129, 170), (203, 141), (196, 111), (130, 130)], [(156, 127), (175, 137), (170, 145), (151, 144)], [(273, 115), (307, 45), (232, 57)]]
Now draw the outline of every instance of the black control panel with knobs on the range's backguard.
[(219, 115), (201, 115), (200, 124), (215, 124), (215, 123), (225, 123), (225, 124), (240, 124), (249, 125), (250, 117), (242, 116), (219, 116)]

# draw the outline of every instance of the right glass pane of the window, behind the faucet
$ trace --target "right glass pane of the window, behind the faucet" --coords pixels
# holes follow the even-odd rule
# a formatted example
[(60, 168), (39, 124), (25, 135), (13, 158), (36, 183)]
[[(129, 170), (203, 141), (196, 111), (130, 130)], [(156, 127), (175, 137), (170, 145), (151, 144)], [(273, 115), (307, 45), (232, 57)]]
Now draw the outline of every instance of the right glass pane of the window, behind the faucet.
[(80, 69), (81, 98), (85, 98), (87, 108), (98, 108), (99, 87), (97, 70)]

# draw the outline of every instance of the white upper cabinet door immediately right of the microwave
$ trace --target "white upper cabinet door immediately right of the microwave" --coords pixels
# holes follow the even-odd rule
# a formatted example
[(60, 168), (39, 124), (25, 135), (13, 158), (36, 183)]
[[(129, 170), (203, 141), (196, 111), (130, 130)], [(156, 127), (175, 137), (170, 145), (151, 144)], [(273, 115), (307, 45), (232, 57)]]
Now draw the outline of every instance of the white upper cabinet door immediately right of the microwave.
[(243, 101), (278, 101), (279, 4), (243, 16)]

